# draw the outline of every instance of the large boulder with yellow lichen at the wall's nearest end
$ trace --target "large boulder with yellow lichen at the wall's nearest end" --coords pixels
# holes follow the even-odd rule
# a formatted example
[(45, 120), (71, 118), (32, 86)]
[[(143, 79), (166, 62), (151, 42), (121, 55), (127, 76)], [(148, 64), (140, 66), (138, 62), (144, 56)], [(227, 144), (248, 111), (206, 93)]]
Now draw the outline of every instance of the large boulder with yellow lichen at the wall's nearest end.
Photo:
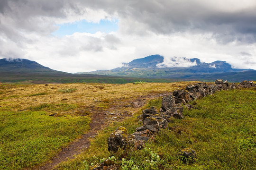
[(128, 144), (128, 132), (125, 127), (118, 127), (108, 138), (108, 150), (117, 152), (119, 148), (126, 148)]

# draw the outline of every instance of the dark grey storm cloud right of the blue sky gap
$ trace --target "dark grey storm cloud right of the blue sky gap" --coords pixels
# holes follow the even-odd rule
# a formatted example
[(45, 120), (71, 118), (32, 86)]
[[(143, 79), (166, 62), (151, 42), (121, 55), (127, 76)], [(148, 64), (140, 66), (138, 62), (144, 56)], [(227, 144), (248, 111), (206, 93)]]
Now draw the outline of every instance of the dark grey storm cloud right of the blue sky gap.
[[(84, 4), (108, 13), (117, 12), (128, 34), (142, 34), (143, 30), (156, 34), (210, 33), (220, 43), (256, 42), (256, 3), (243, 7), (246, 2), (238, 0), (218, 2), (215, 5), (199, 0), (93, 0)], [(229, 10), (233, 4), (241, 8)]]

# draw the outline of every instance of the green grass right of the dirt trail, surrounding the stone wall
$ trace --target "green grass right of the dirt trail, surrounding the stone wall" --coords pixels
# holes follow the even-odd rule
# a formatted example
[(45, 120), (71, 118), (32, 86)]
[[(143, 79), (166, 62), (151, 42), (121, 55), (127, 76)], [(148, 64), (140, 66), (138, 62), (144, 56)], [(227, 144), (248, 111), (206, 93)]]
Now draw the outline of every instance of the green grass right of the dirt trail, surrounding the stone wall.
[[(256, 88), (221, 91), (194, 101), (195, 109), (184, 109), (185, 119), (169, 123), (155, 140), (140, 151), (111, 155), (107, 138), (119, 126), (133, 133), (141, 126), (136, 118), (146, 107), (157, 106), (155, 99), (133, 118), (114, 123), (92, 140), (91, 147), (73, 161), (62, 163), (60, 170), (87, 170), (102, 159), (116, 161), (123, 170), (253, 170), (256, 166)], [(184, 164), (177, 154), (184, 148), (197, 153), (193, 164)]]

